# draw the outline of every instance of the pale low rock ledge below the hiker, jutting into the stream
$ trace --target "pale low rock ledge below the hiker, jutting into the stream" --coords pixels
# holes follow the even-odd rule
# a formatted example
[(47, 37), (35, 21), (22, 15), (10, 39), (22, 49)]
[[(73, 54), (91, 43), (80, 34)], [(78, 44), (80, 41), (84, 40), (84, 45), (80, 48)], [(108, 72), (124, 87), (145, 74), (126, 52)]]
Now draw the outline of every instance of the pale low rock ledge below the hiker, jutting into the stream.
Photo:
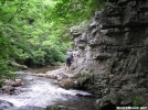
[(66, 70), (65, 67), (55, 70), (49, 70), (45, 74), (31, 74), (36, 77), (46, 77), (54, 79), (53, 84), (59, 85), (65, 89), (70, 88), (81, 88), (80, 84), (77, 82), (77, 78), (74, 78), (74, 75)]

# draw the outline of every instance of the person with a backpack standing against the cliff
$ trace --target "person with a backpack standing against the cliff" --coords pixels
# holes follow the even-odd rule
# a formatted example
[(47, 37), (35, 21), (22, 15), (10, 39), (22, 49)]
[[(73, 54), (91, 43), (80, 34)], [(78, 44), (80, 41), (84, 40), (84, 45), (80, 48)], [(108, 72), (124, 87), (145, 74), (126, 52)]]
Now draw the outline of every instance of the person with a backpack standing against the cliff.
[(67, 70), (70, 70), (72, 61), (73, 61), (73, 52), (72, 52), (72, 50), (68, 50), (67, 53), (66, 53), (66, 67), (67, 67)]

